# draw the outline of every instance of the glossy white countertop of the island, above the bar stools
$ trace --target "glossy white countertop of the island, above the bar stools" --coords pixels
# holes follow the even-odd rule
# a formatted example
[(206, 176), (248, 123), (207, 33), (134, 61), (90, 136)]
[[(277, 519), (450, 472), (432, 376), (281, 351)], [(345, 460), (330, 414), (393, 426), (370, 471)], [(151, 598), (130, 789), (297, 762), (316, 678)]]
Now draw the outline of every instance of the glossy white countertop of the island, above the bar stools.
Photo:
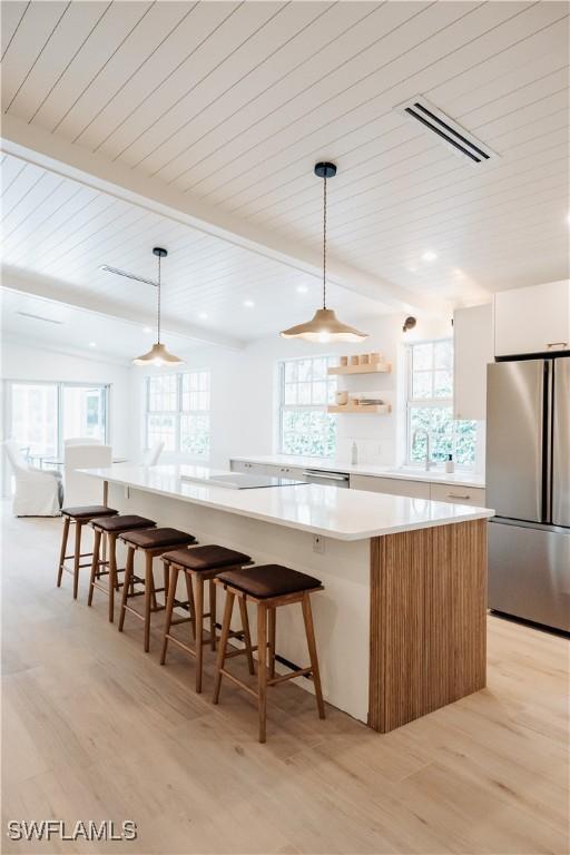
[(118, 463), (106, 469), (80, 471), (110, 484), (335, 540), (365, 540), (400, 531), (487, 519), (494, 513), (488, 508), (361, 490), (338, 490), (321, 484), (232, 490), (185, 480), (185, 476), (199, 476), (200, 473), (206, 476), (208, 473), (222, 473), (220, 470), (186, 464), (144, 466)]

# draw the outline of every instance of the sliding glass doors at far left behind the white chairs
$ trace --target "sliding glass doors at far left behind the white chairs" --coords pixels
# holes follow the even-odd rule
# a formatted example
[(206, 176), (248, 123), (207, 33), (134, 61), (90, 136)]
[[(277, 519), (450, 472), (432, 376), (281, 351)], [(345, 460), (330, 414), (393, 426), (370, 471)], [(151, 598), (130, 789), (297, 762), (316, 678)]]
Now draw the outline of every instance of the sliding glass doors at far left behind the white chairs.
[(8, 390), (8, 434), (31, 458), (60, 458), (72, 436), (107, 440), (108, 386), (9, 381)]

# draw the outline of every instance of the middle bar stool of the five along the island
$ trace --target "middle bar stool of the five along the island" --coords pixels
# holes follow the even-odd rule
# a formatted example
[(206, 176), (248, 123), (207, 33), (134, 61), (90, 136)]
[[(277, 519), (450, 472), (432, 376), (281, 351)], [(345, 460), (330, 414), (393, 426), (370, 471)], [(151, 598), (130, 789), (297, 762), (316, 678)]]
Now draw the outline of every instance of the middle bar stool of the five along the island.
[[(161, 611), (165, 605), (157, 605), (156, 594), (161, 591), (165, 592), (165, 598), (168, 598), (168, 573), (165, 572), (164, 588), (155, 588), (155, 578), (153, 573), (153, 559), (156, 556), (161, 556), (164, 552), (168, 552), (174, 547), (187, 547), (190, 543), (196, 543), (196, 538), (193, 534), (187, 534), (185, 531), (178, 531), (177, 529), (147, 529), (146, 531), (127, 531), (124, 534), (119, 534), (119, 539), (122, 540), (127, 547), (127, 562), (125, 564), (125, 576), (122, 578), (122, 600), (120, 606), (119, 618), (119, 632), (122, 632), (122, 626), (125, 623), (125, 615), (130, 611), (139, 620), (145, 623), (145, 652), (150, 649), (150, 615), (155, 611)], [(145, 556), (145, 578), (140, 579), (135, 576), (135, 552), (140, 550)], [(136, 591), (135, 583), (144, 584), (144, 591)], [(132, 597), (145, 597), (145, 613), (128, 606), (128, 600)]]

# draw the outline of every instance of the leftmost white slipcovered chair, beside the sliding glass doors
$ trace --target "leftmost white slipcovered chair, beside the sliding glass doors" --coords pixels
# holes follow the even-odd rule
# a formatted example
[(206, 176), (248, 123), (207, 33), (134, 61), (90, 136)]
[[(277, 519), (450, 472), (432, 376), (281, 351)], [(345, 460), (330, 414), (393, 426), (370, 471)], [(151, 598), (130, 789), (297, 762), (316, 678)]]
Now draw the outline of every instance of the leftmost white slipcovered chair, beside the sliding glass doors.
[(30, 466), (14, 440), (3, 443), (16, 481), (14, 517), (59, 517), (63, 489), (61, 473)]

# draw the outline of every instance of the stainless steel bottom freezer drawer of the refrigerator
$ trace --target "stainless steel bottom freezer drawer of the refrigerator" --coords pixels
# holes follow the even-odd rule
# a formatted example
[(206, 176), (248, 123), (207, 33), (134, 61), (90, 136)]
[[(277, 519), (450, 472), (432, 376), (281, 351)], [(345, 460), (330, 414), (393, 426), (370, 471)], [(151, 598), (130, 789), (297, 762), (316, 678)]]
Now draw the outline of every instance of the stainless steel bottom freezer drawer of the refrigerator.
[(570, 631), (570, 531), (491, 520), (489, 608)]

